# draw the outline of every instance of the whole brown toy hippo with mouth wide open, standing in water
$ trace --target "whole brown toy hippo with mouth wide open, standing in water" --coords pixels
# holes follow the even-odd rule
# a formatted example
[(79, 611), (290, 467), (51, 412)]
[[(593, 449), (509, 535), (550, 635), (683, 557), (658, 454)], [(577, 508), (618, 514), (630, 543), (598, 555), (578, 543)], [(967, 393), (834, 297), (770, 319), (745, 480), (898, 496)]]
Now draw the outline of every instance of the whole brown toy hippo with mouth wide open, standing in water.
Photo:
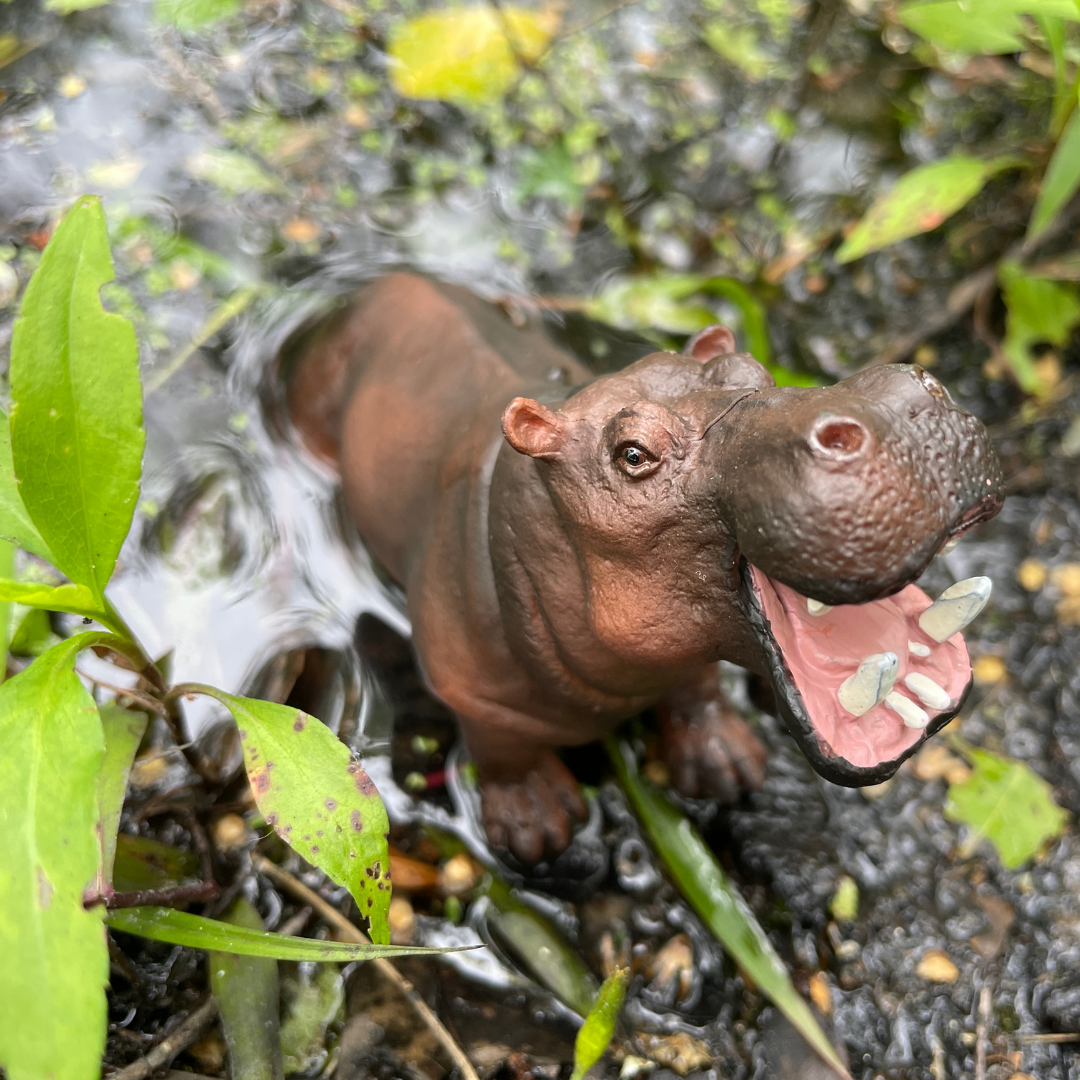
[(407, 273), (294, 342), (307, 446), (340, 472), (460, 720), (489, 840), (524, 862), (584, 814), (559, 746), (654, 706), (674, 785), (737, 798), (765, 751), (717, 661), (767, 677), (811, 765), (880, 783), (959, 710), (989, 581), (914, 580), (1001, 507), (983, 426), (918, 366), (777, 387), (723, 326), (596, 377)]

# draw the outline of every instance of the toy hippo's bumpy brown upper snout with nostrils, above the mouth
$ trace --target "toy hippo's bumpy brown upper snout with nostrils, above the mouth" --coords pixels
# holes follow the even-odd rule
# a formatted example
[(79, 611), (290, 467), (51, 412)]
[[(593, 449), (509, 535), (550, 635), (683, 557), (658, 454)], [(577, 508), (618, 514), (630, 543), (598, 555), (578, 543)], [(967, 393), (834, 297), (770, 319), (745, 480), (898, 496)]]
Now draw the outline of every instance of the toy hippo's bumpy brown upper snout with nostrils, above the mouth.
[(730, 420), (724, 499), (741, 552), (825, 604), (899, 592), (1001, 505), (985, 428), (918, 367), (764, 390)]

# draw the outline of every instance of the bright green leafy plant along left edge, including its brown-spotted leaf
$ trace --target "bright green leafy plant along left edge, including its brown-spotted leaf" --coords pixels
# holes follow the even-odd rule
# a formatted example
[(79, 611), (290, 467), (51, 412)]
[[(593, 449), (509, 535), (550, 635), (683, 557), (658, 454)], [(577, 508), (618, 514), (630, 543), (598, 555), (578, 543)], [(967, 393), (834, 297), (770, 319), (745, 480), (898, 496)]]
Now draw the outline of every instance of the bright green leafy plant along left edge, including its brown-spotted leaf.
[[(138, 498), (145, 435), (138, 350), (129, 321), (102, 308), (113, 275), (99, 201), (76, 202), (49, 241), (15, 322), (10, 442), (0, 436), (0, 537), (69, 579), (0, 579), (0, 615), (17, 602), (71, 611), (114, 633), (63, 640), (0, 686), (0, 1066), (12, 1080), (83, 1080), (99, 1072), (108, 953), (102, 901), (121, 863), (121, 807), (146, 717), (98, 710), (76, 676), (78, 653), (107, 648), (140, 672), (141, 693), (171, 718), (176, 699), (106, 596)], [(0, 417), (0, 428), (6, 417)], [(6, 542), (4, 550), (10, 550)], [(10, 559), (9, 559), (10, 562)], [(46, 624), (48, 630), (48, 624)], [(5, 633), (6, 636), (6, 633)], [(388, 937), (387, 818), (374, 785), (319, 720), (296, 710), (212, 693), (242, 725), (259, 805), (286, 841), (346, 883), (376, 940)], [(270, 779), (271, 762), (273, 778)], [(327, 836), (324, 838), (323, 833)], [(123, 860), (120, 855), (123, 854)], [(89, 906), (84, 906), (84, 899)], [(168, 908), (110, 913), (114, 929), (246, 956), (364, 959), (399, 948), (266, 934)], [(405, 951), (418, 951), (406, 949)], [(424, 950), (419, 950), (424, 951)]]

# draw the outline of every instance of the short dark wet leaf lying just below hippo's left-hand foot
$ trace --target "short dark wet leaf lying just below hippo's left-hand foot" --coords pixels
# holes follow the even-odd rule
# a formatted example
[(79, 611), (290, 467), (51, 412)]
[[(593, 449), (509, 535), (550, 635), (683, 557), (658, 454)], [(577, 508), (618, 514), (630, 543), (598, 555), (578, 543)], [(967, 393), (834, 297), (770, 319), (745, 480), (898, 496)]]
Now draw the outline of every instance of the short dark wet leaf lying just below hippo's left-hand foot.
[(596, 980), (566, 939), (539, 912), (517, 900), (501, 878), (486, 886), (496, 910), (489, 924), (536, 980), (578, 1015), (596, 1000)]

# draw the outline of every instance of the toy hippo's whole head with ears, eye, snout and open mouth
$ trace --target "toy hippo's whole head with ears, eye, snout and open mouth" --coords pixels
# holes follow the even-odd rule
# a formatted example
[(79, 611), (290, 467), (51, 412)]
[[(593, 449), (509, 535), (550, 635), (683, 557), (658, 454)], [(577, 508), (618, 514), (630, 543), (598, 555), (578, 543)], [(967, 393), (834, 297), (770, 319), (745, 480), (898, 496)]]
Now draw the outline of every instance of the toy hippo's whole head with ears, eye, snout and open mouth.
[(536, 459), (606, 652), (643, 672), (717, 659), (767, 675), (814, 768), (879, 783), (959, 710), (976, 578), (914, 580), (1002, 502), (983, 426), (917, 366), (777, 387), (724, 327), (503, 433)]

